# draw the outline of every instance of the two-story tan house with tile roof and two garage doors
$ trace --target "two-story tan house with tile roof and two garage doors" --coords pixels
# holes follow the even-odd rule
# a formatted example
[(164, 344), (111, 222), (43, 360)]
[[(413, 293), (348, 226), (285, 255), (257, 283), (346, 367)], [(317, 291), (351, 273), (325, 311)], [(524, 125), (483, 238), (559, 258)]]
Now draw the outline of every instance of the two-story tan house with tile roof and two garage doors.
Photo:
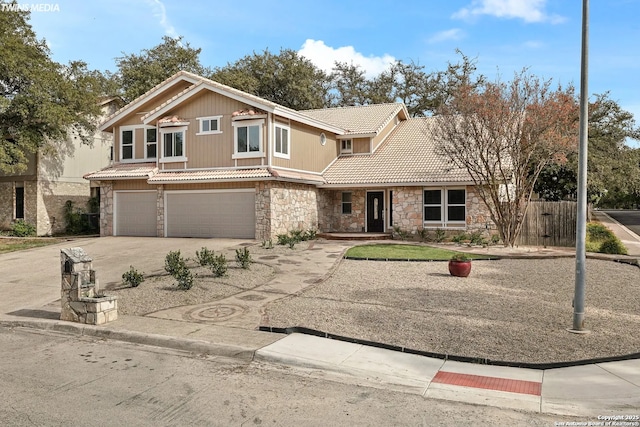
[(399, 103), (295, 111), (179, 72), (106, 119), (115, 163), (85, 177), (104, 236), (484, 229), (432, 126)]

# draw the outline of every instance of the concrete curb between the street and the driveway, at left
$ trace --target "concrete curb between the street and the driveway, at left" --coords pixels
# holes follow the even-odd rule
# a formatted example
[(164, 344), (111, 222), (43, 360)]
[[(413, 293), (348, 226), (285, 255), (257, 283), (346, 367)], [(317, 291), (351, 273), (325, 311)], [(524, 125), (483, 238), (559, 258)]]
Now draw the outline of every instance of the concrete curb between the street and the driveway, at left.
[(211, 343), (202, 340), (176, 338), (159, 334), (147, 334), (134, 331), (115, 331), (93, 325), (75, 324), (63, 321), (44, 320), (7, 320), (1, 319), (0, 326), (41, 329), (95, 338), (111, 339), (133, 344), (170, 348), (209, 356), (228, 357), (251, 362), (258, 349), (236, 345)]

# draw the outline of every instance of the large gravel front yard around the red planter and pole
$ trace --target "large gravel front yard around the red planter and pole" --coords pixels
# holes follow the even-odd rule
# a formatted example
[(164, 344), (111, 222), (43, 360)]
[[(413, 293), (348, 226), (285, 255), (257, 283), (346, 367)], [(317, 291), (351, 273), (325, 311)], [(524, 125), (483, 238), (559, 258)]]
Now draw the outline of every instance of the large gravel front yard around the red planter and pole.
[(586, 327), (567, 332), (575, 260), (343, 260), (326, 281), (267, 306), (269, 326), (304, 326), (416, 350), (521, 363), (640, 352), (640, 268), (587, 260)]

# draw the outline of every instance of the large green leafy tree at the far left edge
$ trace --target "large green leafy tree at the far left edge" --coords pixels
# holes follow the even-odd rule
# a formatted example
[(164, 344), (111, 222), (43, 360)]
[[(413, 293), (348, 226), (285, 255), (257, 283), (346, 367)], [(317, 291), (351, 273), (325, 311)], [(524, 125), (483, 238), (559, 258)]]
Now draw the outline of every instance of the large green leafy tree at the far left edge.
[(38, 149), (70, 135), (89, 143), (99, 90), (84, 62), (51, 60), (29, 25), (29, 12), (0, 13), (0, 171), (18, 173)]

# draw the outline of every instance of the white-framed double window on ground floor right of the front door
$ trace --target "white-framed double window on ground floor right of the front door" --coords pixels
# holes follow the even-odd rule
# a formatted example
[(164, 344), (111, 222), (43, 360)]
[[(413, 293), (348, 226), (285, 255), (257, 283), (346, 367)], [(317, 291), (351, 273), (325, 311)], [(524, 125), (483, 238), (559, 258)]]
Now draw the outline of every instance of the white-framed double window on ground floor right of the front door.
[(423, 194), (425, 225), (460, 226), (466, 221), (464, 188), (425, 189)]

